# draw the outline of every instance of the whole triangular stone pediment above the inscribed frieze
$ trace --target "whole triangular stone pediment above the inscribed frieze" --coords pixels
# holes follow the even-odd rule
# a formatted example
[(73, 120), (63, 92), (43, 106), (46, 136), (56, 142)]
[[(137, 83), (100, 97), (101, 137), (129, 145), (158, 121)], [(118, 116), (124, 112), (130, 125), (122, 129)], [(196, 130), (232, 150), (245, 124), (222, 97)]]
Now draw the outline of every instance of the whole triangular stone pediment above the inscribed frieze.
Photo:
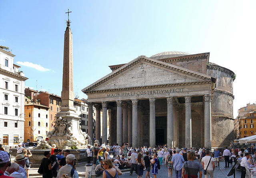
[(86, 93), (86, 91), (180, 83), (202, 83), (206, 81), (211, 81), (211, 77), (169, 63), (140, 56), (84, 88), (82, 91)]

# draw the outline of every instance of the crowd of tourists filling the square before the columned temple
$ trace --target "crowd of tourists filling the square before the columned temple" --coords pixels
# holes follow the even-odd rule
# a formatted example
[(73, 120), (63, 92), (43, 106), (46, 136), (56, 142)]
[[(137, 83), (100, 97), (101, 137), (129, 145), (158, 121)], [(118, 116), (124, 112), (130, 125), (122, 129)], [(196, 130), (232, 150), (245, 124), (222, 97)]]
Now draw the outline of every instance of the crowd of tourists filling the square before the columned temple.
[[(50, 151), (44, 152), (45, 158), (41, 160), (38, 173), (42, 174), (43, 178), (78, 178), (74, 154), (70, 154), (70, 150), (58, 149), (54, 144), (52, 146)], [(106, 146), (105, 143), (100, 145), (96, 142), (93, 146), (88, 145), (85, 154), (87, 163), (92, 162), (95, 174), (103, 175), (103, 178), (117, 178), (118, 175), (122, 175), (122, 169), (130, 170), (130, 175), (135, 172), (138, 178), (142, 178), (146, 170), (146, 178), (150, 178), (150, 174), (156, 178), (160, 169), (164, 167), (168, 169), (168, 178), (172, 178), (173, 172), (176, 178), (189, 176), (197, 178), (198, 173), (201, 178), (203, 172), (205, 177), (213, 178), (214, 169), (219, 166), (221, 156), (225, 159), (224, 168), (228, 168), (236, 160), (241, 160), (239, 166), (242, 172), (241, 178), (245, 178), (246, 168), (250, 169), (256, 165), (254, 146), (232, 149), (226, 147), (221, 154), (218, 148), (211, 153), (206, 148), (198, 150), (166, 146), (132, 148), (125, 142), (121, 146), (118, 144)], [(0, 146), (0, 177), (28, 178), (32, 164), (29, 160), (32, 156), (30, 149), (18, 144), (13, 163), (10, 162), (9, 155)], [(198, 161), (195, 161), (197, 159)]]

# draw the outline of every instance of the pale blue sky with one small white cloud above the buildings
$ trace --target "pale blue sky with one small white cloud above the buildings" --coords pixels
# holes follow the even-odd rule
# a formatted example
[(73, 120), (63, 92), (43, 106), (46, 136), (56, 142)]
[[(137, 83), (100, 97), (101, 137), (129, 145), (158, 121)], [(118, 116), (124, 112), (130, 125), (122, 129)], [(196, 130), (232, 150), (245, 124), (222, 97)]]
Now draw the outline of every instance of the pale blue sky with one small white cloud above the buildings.
[[(0, 0), (0, 45), (29, 79), (26, 87), (61, 95), (65, 20), (73, 34), (74, 92), (111, 72), (109, 65), (163, 51), (210, 52), (236, 74), (234, 117), (256, 103), (256, 1)], [(36, 87), (37, 84), (37, 87)]]

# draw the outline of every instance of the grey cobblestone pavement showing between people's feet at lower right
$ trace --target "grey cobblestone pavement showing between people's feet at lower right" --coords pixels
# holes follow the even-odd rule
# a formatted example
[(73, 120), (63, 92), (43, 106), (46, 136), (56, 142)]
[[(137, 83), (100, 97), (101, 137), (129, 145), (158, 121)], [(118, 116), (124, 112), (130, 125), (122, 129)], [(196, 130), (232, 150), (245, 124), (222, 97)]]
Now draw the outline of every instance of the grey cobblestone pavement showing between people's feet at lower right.
[[(198, 160), (195, 160), (195, 161), (198, 162)], [(234, 177), (234, 175), (227, 176), (232, 168), (231, 164), (230, 164), (229, 168), (224, 168), (224, 166), (225, 166), (225, 161), (220, 161), (220, 169), (222, 169), (222, 170), (218, 170), (218, 167), (216, 167), (214, 170), (214, 178), (233, 178)], [(145, 178), (145, 176), (146, 176), (146, 170), (144, 170), (142, 178)], [(176, 175), (173, 170), (172, 178), (175, 178), (175, 176)], [(150, 177), (152, 177), (152, 178), (154, 177), (151, 174), (151, 172), (150, 172)], [(158, 170), (158, 174), (156, 175), (156, 177), (157, 178), (168, 178), (168, 169), (166, 168), (164, 163), (162, 163), (162, 166), (161, 166), (160, 170)], [(240, 177), (241, 177), (241, 172), (236, 170), (236, 178), (240, 178)], [(123, 172), (123, 175), (119, 176), (119, 178), (137, 178), (137, 175), (135, 174), (135, 172), (132, 174), (132, 176), (129, 174), (129, 172)], [(202, 178), (204, 178), (204, 174), (203, 174)]]

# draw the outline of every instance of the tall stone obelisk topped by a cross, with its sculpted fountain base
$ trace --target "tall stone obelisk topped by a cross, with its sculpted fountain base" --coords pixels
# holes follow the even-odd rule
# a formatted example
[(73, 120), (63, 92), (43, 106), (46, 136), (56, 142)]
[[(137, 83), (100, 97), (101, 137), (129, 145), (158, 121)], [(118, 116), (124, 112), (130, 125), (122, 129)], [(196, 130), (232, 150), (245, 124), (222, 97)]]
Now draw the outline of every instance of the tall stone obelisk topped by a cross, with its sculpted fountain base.
[(82, 132), (81, 130), (80, 117), (78, 116), (78, 113), (76, 113), (76, 108), (74, 107), (73, 44), (69, 18), (66, 22), (67, 27), (64, 34), (63, 77), (61, 92), (62, 103), (60, 112), (58, 112), (55, 116), (56, 119), (54, 121), (54, 130), (52, 133), (50, 133), (50, 139), (57, 140), (54, 141), (57, 144), (58, 142), (63, 142), (63, 139), (83, 144), (86, 139), (86, 133)]

